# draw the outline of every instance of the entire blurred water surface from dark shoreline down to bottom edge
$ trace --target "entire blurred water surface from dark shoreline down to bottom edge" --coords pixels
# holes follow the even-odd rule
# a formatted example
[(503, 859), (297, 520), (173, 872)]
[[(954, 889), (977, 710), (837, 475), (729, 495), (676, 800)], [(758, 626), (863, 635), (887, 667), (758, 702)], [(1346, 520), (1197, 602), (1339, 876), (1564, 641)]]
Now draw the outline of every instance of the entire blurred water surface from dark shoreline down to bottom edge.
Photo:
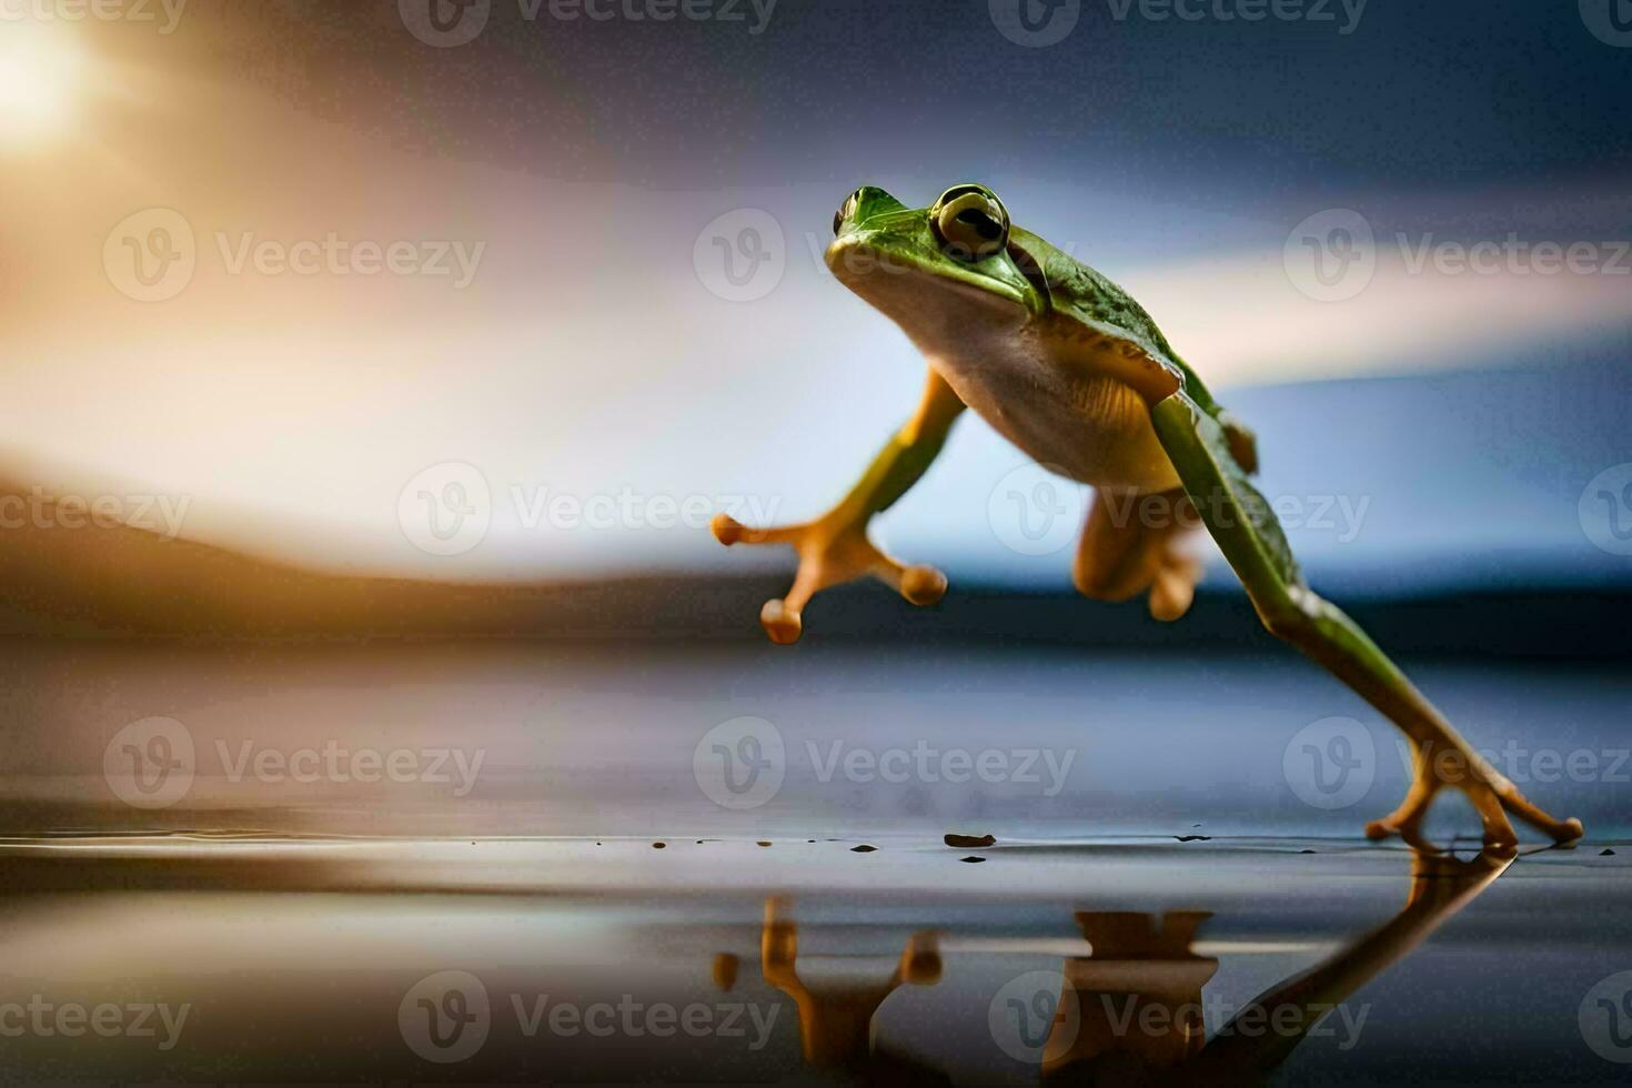
[(1366, 843), (1404, 767), (1296, 659), (13, 651), (5, 1083), (1632, 1068), (1608, 669), (1413, 669), (1588, 822), (1508, 863)]

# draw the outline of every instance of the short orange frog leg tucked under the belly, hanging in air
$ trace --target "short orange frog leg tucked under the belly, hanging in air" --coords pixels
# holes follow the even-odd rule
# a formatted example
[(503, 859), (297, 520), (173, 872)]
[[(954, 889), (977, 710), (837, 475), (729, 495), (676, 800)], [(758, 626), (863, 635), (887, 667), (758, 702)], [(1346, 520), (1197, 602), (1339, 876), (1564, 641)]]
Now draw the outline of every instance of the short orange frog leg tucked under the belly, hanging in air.
[(1182, 489), (1160, 494), (1093, 496), (1089, 524), (1077, 545), (1071, 581), (1093, 600), (1128, 600), (1149, 590), (1151, 615), (1177, 620), (1190, 612), (1201, 561), (1186, 543), (1201, 527)]

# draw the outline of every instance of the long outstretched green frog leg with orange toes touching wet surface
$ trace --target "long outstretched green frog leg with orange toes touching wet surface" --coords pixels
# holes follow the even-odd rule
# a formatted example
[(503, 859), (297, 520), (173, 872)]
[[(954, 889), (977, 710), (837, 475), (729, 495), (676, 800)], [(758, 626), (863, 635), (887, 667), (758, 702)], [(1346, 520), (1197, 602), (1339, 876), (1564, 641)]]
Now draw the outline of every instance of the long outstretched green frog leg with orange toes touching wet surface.
[(1265, 626), (1332, 670), (1410, 737), (1415, 752), (1410, 793), (1394, 814), (1366, 827), (1371, 838), (1399, 832), (1413, 845), (1423, 845), (1421, 817), (1444, 786), (1467, 793), (1483, 824), (1487, 848), (1516, 845), (1506, 812), (1560, 843), (1581, 837), (1580, 820), (1555, 820), (1531, 804), (1462, 739), (1359, 625), (1304, 584), (1275, 514), (1247, 481), (1216, 419), (1183, 393), (1154, 405), (1151, 419), (1185, 491), (1247, 587)]

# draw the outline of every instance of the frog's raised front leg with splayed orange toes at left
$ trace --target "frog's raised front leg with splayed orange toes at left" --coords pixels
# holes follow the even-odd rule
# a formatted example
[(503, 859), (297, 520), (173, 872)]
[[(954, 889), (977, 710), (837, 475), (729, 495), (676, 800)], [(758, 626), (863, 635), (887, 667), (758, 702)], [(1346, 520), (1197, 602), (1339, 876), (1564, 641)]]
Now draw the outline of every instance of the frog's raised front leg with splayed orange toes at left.
[(889, 509), (919, 481), (935, 460), (947, 432), (963, 411), (963, 401), (945, 378), (930, 370), (917, 413), (880, 450), (850, 493), (813, 522), (775, 529), (749, 529), (718, 514), (713, 535), (723, 545), (787, 543), (800, 556), (800, 569), (787, 597), (772, 599), (759, 612), (770, 641), (796, 643), (805, 625), (800, 615), (809, 599), (829, 586), (871, 574), (916, 605), (932, 605), (947, 592), (947, 576), (930, 566), (906, 566), (867, 538), (867, 524)]

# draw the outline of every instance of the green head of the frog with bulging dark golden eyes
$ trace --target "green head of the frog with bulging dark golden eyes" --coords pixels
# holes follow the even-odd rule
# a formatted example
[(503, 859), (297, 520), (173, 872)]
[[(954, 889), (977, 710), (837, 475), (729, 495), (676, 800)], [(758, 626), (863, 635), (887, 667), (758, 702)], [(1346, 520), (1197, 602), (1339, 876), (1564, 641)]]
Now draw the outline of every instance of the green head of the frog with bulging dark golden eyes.
[(914, 338), (976, 316), (1020, 325), (1048, 303), (1015, 263), (1028, 258), (1010, 230), (986, 186), (953, 186), (919, 209), (862, 186), (834, 214), (827, 268)]

